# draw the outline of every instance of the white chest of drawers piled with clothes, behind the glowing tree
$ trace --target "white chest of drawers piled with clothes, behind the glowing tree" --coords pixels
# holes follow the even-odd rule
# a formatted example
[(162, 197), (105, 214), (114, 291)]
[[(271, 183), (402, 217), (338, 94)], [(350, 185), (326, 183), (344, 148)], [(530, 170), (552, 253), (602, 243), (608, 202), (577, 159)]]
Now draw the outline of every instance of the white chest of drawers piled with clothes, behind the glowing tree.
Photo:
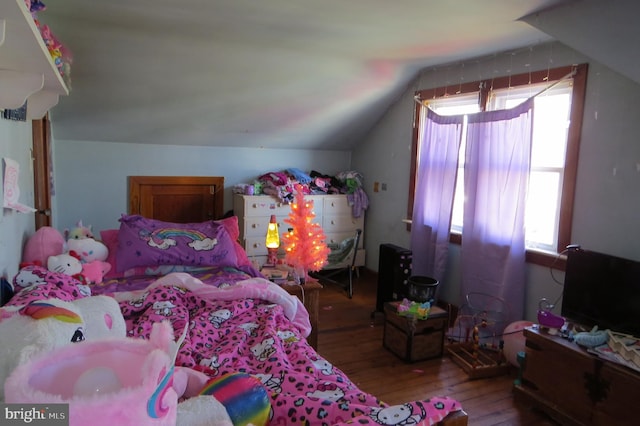
[[(364, 266), (364, 212), (358, 218), (353, 217), (352, 208), (344, 194), (307, 195), (305, 199), (313, 201), (313, 212), (316, 215), (314, 222), (322, 226), (327, 243), (339, 243), (345, 238), (353, 236), (356, 229), (363, 231), (356, 256), (356, 266)], [(290, 225), (284, 221), (291, 212), (289, 204), (281, 203), (269, 195), (234, 194), (233, 212), (238, 216), (240, 243), (246, 250), (249, 259), (262, 266), (267, 260), (267, 248), (264, 240), (267, 235), (269, 219), (271, 215), (276, 215), (280, 235), (286, 233), (290, 228)], [(282, 246), (279, 250), (279, 256), (284, 257)]]

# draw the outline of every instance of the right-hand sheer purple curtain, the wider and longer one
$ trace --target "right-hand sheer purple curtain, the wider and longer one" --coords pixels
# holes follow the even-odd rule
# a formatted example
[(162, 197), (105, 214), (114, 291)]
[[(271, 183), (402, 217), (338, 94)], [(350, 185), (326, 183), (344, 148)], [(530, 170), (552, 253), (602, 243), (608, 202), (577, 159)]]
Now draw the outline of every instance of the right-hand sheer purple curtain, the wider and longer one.
[(524, 311), (524, 207), (533, 99), (468, 120), (461, 294), (502, 299), (509, 323), (522, 319)]

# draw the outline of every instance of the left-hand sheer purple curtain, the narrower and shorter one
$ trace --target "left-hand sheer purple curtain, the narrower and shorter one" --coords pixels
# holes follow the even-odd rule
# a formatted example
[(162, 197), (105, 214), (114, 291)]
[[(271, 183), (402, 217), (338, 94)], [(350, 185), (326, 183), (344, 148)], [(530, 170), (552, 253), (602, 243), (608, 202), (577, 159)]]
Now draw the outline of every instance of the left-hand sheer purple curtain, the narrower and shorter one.
[(411, 218), (412, 273), (442, 281), (464, 116), (441, 116), (422, 108), (421, 118)]

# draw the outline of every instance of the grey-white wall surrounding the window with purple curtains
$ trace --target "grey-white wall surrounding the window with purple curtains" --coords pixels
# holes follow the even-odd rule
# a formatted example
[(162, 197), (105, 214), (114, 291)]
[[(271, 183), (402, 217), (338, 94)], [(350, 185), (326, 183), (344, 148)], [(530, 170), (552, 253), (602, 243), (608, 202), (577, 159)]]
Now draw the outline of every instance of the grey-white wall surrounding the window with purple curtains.
[[(496, 54), (439, 68), (429, 68), (407, 88), (368, 137), (353, 151), (353, 168), (367, 178), (371, 199), (366, 225), (367, 267), (378, 268), (379, 245), (410, 247), (401, 219), (408, 202), (413, 95), (418, 89), (455, 87), (474, 81), (589, 63), (585, 116), (578, 165), (572, 241), (584, 248), (640, 260), (640, 85), (560, 44)], [(511, 71), (509, 71), (511, 70)], [(374, 193), (373, 182), (387, 183)], [(415, 261), (415, 260), (414, 260)], [(541, 297), (562, 292), (547, 268), (529, 265), (526, 319), (535, 320)], [(554, 276), (563, 280), (562, 272)], [(451, 246), (448, 275), (441, 296), (461, 303), (459, 247)]]

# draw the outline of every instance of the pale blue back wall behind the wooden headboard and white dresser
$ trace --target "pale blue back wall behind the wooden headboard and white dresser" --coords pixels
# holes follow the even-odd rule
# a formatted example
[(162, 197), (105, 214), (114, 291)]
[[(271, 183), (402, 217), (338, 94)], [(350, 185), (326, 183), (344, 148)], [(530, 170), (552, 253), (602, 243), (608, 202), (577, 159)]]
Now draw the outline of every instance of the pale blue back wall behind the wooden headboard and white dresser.
[(63, 231), (78, 220), (94, 232), (117, 228), (127, 212), (127, 176), (224, 176), (224, 211), (232, 208), (232, 188), (260, 175), (290, 167), (336, 174), (349, 170), (351, 154), (55, 140), (53, 226)]

